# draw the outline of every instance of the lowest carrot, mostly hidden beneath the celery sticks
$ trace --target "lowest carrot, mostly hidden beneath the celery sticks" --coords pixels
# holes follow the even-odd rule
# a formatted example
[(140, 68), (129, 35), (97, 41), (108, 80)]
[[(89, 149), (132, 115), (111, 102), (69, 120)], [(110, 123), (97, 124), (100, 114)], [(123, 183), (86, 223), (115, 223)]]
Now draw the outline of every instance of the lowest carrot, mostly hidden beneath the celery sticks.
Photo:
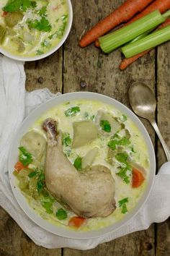
[[(170, 25), (170, 18), (168, 20), (166, 20), (164, 23), (162, 23), (158, 29), (161, 29), (163, 27), (166, 27)], [(152, 49), (148, 50), (148, 51), (143, 51), (143, 53), (141, 54), (137, 54), (135, 56), (133, 56), (132, 58), (129, 58), (129, 59), (123, 59), (121, 64), (120, 64), (120, 69), (121, 70), (124, 70), (126, 69), (130, 64), (132, 64), (133, 62), (135, 62), (137, 59), (139, 59), (140, 57), (148, 54)]]

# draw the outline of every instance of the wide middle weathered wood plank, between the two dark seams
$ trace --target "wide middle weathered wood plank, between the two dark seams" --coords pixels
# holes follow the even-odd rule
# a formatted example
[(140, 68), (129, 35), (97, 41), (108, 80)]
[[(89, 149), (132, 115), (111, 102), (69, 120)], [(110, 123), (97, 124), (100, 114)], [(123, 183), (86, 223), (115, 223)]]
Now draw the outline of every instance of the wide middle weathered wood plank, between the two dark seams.
[[(79, 37), (97, 20), (108, 14), (122, 1), (78, 1), (73, 0), (73, 27), (64, 49), (64, 93), (86, 90), (109, 95), (128, 106), (128, 85), (135, 80), (144, 80), (153, 90), (155, 85), (154, 51), (138, 60), (125, 72), (118, 69), (121, 54), (115, 51), (104, 55), (93, 45), (81, 49)], [(81, 86), (82, 85), (82, 86)], [(154, 132), (147, 121), (143, 121), (154, 143)], [(82, 252), (64, 249), (64, 256), (78, 255), (154, 255), (154, 225), (147, 231), (124, 236), (113, 242), (99, 245), (96, 249)]]

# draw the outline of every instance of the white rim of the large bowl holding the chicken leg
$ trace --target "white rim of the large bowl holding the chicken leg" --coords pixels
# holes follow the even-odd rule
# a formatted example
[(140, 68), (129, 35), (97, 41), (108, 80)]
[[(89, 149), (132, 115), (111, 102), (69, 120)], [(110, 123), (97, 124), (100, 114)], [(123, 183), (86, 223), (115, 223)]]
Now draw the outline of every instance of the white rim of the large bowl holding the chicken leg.
[[(53, 108), (54, 106), (57, 106), (58, 104), (73, 101), (76, 99), (88, 99), (88, 100), (97, 100), (102, 101), (104, 103), (110, 104), (112, 106), (115, 106), (115, 108), (122, 111), (124, 114), (126, 114), (138, 127), (140, 132), (143, 135), (144, 140), (146, 141), (146, 145), (148, 148), (148, 158), (150, 160), (151, 166), (150, 166), (150, 172), (148, 176), (148, 185), (146, 187), (146, 191), (143, 193), (143, 196), (141, 197), (140, 201), (138, 202), (138, 205), (130, 212), (128, 213), (125, 218), (123, 218), (121, 221), (112, 224), (111, 226), (108, 226), (103, 229), (99, 229), (96, 231), (72, 231), (70, 229), (66, 229), (62, 226), (55, 226), (52, 223), (45, 221), (42, 219), (35, 211), (30, 208), (28, 205), (24, 195), (20, 192), (20, 189), (16, 186), (16, 177), (13, 174), (14, 171), (14, 164), (17, 162), (18, 159), (18, 150), (19, 142), (22, 139), (23, 135), (28, 131), (29, 127), (32, 126), (32, 124), (37, 121), (37, 119), (40, 118), (42, 114), (45, 113), (45, 111), (48, 111), (50, 108)], [(151, 138), (148, 135), (148, 132), (146, 131), (146, 128), (143, 126), (142, 122), (138, 119), (135, 114), (133, 114), (132, 111), (130, 111), (129, 108), (122, 105), (122, 103), (116, 101), (113, 98), (109, 98), (107, 96), (98, 94), (98, 93), (86, 93), (86, 92), (77, 92), (77, 93), (66, 93), (64, 95), (57, 96), (56, 98), (53, 98), (52, 100), (48, 101), (47, 103), (42, 104), (39, 106), (35, 111), (33, 111), (30, 116), (27, 116), (26, 119), (24, 119), (21, 127), (18, 129), (17, 134), (14, 136), (14, 141), (12, 143), (12, 148), (10, 150), (9, 154), (9, 179), (12, 186), (12, 191), (14, 193), (14, 197), (17, 199), (17, 202), (19, 203), (22, 210), (24, 210), (24, 213), (29, 216), (32, 221), (34, 221), (37, 225), (41, 226), (43, 229), (50, 231), (53, 234), (57, 234), (59, 236), (64, 236), (68, 238), (73, 239), (92, 239), (97, 236), (102, 236), (104, 234), (107, 234), (111, 231), (116, 231), (119, 229), (122, 225), (125, 223), (128, 223), (131, 218), (133, 218), (140, 208), (143, 207), (143, 204), (146, 202), (149, 193), (151, 192), (151, 188), (153, 185), (154, 177), (156, 174), (156, 158), (155, 153), (153, 149), (153, 145), (151, 142)]]

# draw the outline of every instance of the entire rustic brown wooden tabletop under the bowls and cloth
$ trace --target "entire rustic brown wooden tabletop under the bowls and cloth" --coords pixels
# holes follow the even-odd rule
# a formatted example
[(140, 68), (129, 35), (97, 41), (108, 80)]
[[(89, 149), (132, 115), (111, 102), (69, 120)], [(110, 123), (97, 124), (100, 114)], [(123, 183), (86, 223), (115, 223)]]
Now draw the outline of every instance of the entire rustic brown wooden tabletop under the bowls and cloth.
[[(139, 59), (124, 72), (118, 64), (121, 54), (115, 51), (109, 56), (94, 46), (81, 49), (79, 37), (123, 0), (72, 0), (73, 26), (66, 43), (48, 58), (25, 64), (28, 91), (49, 88), (53, 93), (79, 90), (102, 93), (128, 104), (130, 82), (142, 80), (155, 92), (158, 100), (156, 119), (170, 147), (170, 43), (158, 47), (151, 54)], [(160, 142), (147, 121), (146, 125), (156, 149), (157, 163), (166, 161)], [(146, 231), (129, 234), (115, 241), (100, 244), (95, 249), (45, 249), (35, 245), (17, 226), (12, 218), (0, 209), (0, 256), (137, 256), (170, 255), (170, 221), (153, 224)]]

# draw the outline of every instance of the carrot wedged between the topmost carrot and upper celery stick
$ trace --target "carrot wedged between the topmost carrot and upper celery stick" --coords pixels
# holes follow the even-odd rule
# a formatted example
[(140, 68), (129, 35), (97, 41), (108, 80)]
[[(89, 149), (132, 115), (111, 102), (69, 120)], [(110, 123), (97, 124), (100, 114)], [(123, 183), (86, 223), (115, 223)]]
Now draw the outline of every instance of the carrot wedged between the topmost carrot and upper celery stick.
[(141, 17), (146, 16), (147, 14), (155, 11), (158, 9), (161, 13), (166, 12), (170, 9), (170, 0), (156, 0), (153, 1), (152, 4), (150, 4), (146, 9), (143, 10), (143, 12), (140, 12), (140, 14), (137, 14), (132, 20), (130, 20), (128, 23), (125, 24), (129, 25), (130, 23), (134, 22), (135, 20), (139, 20)]

